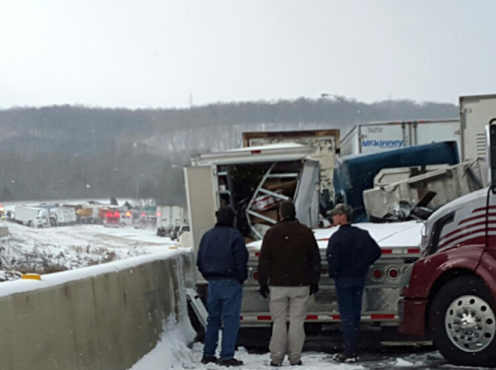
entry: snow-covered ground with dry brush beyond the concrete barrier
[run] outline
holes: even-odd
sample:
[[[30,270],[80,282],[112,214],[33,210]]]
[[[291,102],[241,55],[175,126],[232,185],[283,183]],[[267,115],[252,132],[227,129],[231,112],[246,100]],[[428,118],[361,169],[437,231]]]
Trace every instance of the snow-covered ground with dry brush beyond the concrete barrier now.
[[[0,226],[10,232],[10,236],[0,238],[0,281],[20,278],[19,271],[76,269],[176,245],[170,238],[156,236],[151,228],[74,225],[34,229],[6,221]]]

